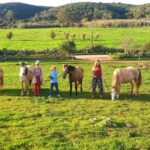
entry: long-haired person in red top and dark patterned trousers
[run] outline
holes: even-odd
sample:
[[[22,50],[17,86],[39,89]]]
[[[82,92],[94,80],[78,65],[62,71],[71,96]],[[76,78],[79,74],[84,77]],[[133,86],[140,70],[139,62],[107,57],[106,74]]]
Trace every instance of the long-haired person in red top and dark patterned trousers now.
[[[96,60],[95,64],[92,68],[92,74],[93,74],[93,79],[92,79],[92,97],[95,96],[96,92],[96,86],[98,84],[99,88],[99,93],[103,93],[103,83],[102,83],[102,68],[100,64],[100,60]]]

